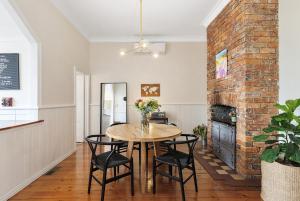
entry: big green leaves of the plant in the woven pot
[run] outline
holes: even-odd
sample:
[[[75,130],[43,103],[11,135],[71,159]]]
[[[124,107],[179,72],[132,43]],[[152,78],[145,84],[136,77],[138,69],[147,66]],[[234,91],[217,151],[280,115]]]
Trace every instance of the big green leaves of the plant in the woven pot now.
[[[300,99],[275,106],[282,113],[272,117],[269,126],[263,129],[264,134],[253,138],[255,142],[266,144],[261,160],[300,166],[300,116],[295,112],[300,106]]]

